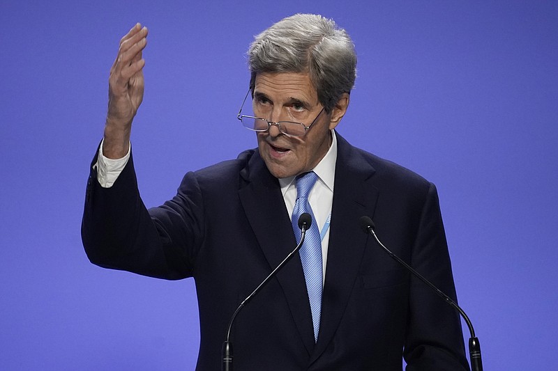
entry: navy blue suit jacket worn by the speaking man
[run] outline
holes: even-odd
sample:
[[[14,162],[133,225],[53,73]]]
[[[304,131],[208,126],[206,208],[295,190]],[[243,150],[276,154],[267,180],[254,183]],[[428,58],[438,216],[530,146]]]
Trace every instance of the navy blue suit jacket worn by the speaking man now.
[[[455,298],[435,186],[337,136],[318,341],[297,255],[237,317],[234,367],[401,370],[403,354],[407,370],[467,370],[458,314],[359,226],[370,216],[386,246]],[[96,265],[195,278],[197,370],[220,370],[232,313],[296,245],[278,180],[257,150],[186,174],[176,196],[149,211],[131,158],[110,189],[91,168],[82,239]]]

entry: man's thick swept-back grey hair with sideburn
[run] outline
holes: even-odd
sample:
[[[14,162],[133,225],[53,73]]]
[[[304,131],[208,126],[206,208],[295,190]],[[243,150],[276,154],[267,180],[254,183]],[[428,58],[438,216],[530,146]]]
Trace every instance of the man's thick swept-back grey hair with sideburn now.
[[[318,100],[330,113],[356,79],[356,52],[344,29],[321,15],[296,14],[259,35],[248,49],[250,88],[258,73],[308,73]]]

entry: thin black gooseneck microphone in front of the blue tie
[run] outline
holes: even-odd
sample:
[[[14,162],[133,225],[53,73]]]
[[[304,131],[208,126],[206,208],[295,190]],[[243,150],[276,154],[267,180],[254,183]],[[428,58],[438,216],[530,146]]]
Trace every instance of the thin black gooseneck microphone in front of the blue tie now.
[[[232,371],[232,341],[230,341],[229,338],[230,338],[230,334],[231,334],[232,324],[234,322],[234,319],[236,318],[236,315],[239,314],[241,309],[244,308],[244,306],[246,306],[248,301],[250,301],[252,299],[252,297],[254,297],[254,295],[257,294],[257,292],[259,292],[259,290],[261,290],[262,287],[264,287],[266,285],[266,283],[269,282],[269,280],[271,280],[271,278],[276,276],[277,272],[282,267],[285,267],[287,262],[289,262],[289,260],[291,260],[291,258],[294,256],[294,254],[296,254],[300,250],[300,248],[301,248],[301,246],[304,242],[304,237],[306,237],[306,231],[308,229],[310,229],[310,226],[312,225],[312,216],[310,216],[310,214],[308,214],[308,212],[305,212],[305,213],[301,214],[301,216],[299,217],[298,225],[299,225],[299,228],[301,230],[301,241],[299,242],[299,244],[297,244],[296,247],[294,248],[294,250],[291,251],[289,253],[289,255],[287,255],[287,257],[285,259],[283,259],[282,262],[279,263],[279,265],[276,267],[276,269],[273,269],[273,271],[271,271],[269,276],[267,276],[264,279],[264,281],[262,281],[262,283],[260,283],[255,288],[254,291],[252,291],[252,294],[248,295],[248,297],[246,297],[246,299],[244,299],[242,301],[242,303],[240,303],[239,307],[236,308],[236,310],[232,314],[231,320],[229,322],[229,327],[227,329],[227,340],[225,340],[225,342],[223,342],[223,347],[221,348],[221,355],[223,356],[223,363],[222,363],[222,366],[221,366],[222,371]]]

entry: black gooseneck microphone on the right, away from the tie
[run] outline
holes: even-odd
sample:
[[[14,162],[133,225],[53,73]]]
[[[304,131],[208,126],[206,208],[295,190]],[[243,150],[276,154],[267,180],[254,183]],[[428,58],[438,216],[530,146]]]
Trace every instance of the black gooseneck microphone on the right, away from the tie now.
[[[451,299],[451,297],[448,297],[448,295],[444,294],[444,292],[439,290],[438,287],[436,287],[434,284],[432,284],[426,278],[421,276],[421,274],[419,274],[417,271],[415,271],[410,265],[408,265],[406,262],[401,260],[397,255],[392,253],[389,250],[389,248],[384,246],[384,244],[382,244],[382,242],[380,242],[380,240],[378,239],[378,237],[376,235],[376,232],[375,232],[374,222],[372,221],[372,219],[370,219],[369,216],[361,216],[360,222],[361,222],[361,227],[363,228],[364,232],[365,233],[370,233],[370,235],[372,235],[374,237],[374,239],[379,244],[379,246],[381,246],[384,249],[384,251],[386,251],[386,253],[388,253],[388,255],[391,256],[391,258],[393,258],[400,265],[405,267],[416,278],[418,278],[419,280],[423,281],[423,283],[428,285],[432,290],[434,290],[438,294],[439,297],[442,297],[442,299],[444,299],[444,301],[446,303],[448,303],[449,306],[451,306],[455,310],[457,310],[459,312],[459,314],[461,315],[461,317],[463,317],[463,319],[465,319],[465,322],[467,322],[467,327],[469,327],[469,333],[471,334],[471,338],[469,338],[469,357],[471,358],[471,370],[472,371],[483,371],[483,361],[481,359],[481,345],[478,343],[478,339],[475,337],[475,331],[473,329],[473,324],[469,320],[469,317],[467,317],[465,312],[461,309],[461,307],[458,306],[458,304],[455,303],[455,301],[453,301]]]

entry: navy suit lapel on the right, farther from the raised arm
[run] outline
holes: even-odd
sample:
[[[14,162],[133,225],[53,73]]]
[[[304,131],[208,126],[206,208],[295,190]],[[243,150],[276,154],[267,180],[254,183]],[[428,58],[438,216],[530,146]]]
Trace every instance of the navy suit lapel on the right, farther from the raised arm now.
[[[322,319],[311,362],[324,352],[333,338],[352,294],[368,237],[361,230],[359,219],[363,215],[373,217],[378,196],[370,180],[375,169],[339,134],[337,140]]]

